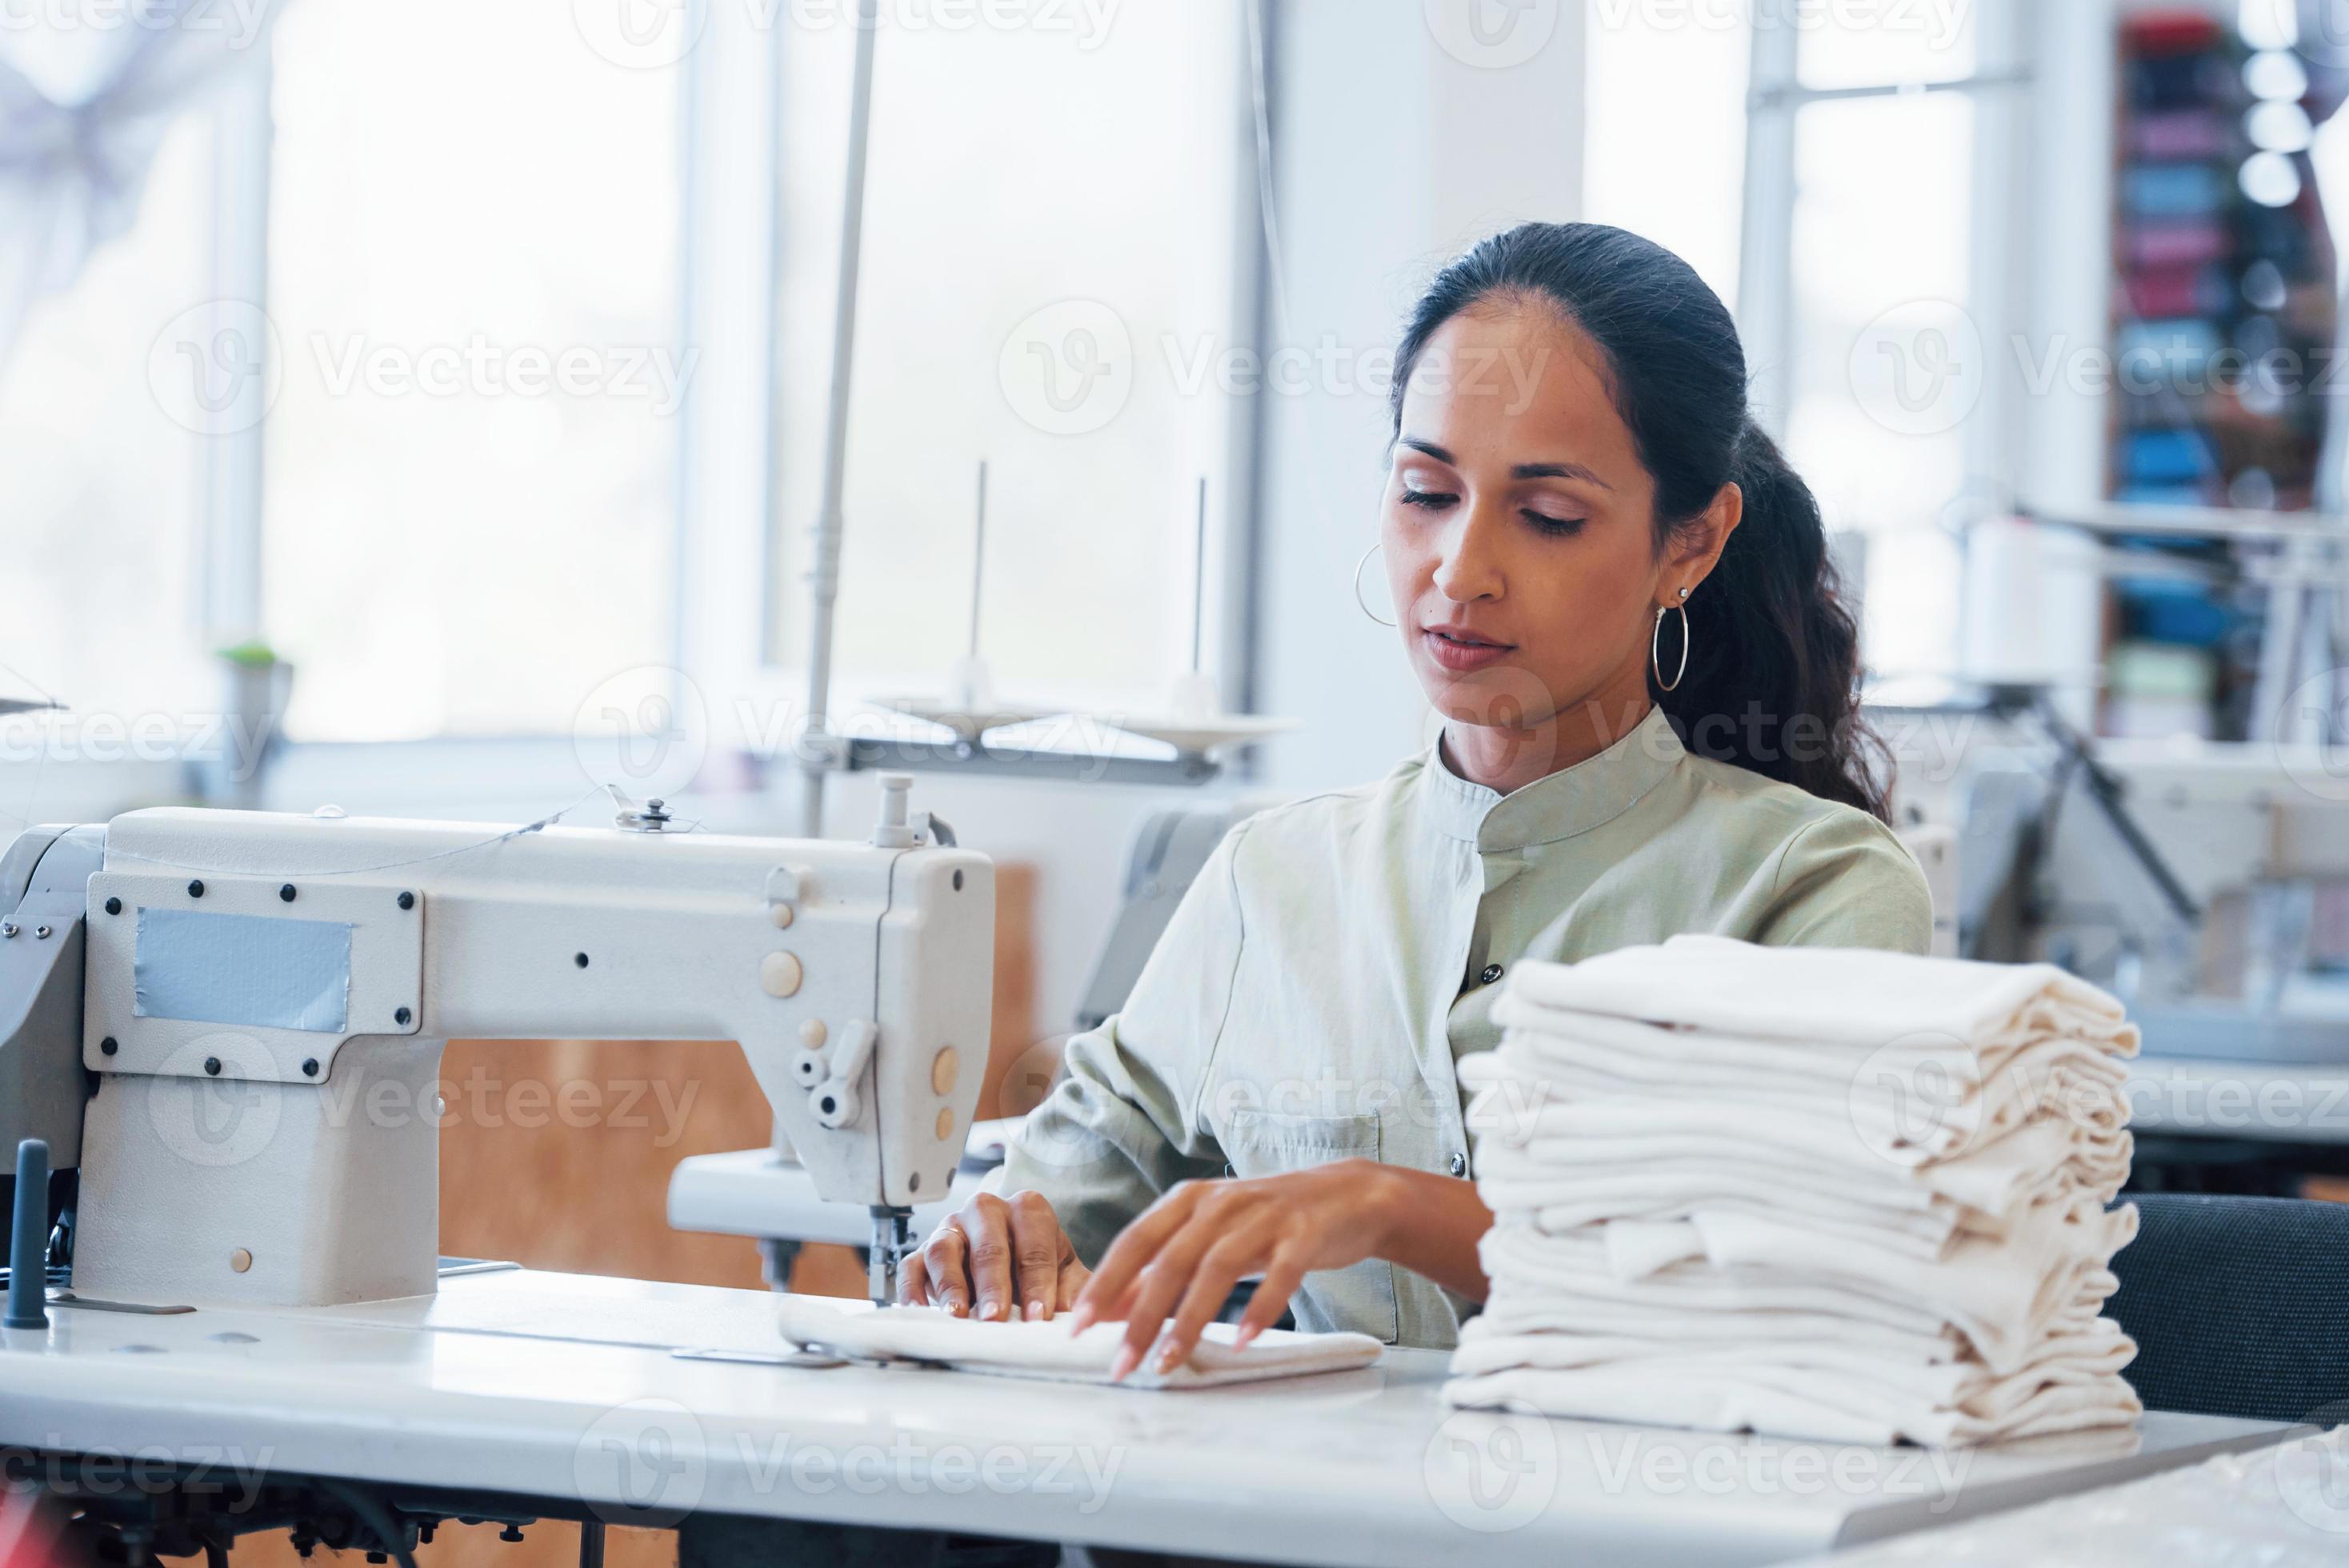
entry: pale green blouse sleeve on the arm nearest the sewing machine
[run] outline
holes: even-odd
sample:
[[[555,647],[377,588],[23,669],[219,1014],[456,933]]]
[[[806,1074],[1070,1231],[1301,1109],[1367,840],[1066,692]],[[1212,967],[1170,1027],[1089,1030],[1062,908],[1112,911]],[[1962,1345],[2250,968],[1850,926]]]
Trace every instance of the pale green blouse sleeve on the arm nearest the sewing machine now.
[[[1059,1082],[987,1178],[994,1192],[1043,1192],[1085,1263],[1177,1181],[1224,1174],[1198,1106],[1240,967],[1245,833],[1243,822],[1200,866],[1125,1007],[1069,1040]]]

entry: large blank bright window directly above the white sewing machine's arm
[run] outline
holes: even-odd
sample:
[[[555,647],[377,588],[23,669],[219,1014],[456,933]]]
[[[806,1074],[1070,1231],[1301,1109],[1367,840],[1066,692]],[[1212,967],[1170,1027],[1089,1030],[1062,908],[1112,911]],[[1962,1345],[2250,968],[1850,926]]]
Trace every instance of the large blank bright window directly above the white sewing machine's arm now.
[[[277,31],[263,606],[301,739],[566,732],[669,655],[681,73],[571,9]]]

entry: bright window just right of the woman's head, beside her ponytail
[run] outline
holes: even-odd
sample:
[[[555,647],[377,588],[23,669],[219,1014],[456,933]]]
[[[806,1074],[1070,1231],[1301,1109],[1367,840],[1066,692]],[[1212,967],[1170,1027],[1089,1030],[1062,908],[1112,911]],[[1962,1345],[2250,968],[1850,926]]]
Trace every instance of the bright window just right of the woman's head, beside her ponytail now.
[[[1755,28],[1743,307],[1755,401],[1856,542],[1863,657],[1945,671],[1954,502],[1999,462],[1983,408],[1997,307],[1980,296],[1978,157],[2013,80],[1983,68],[1999,7],[1773,7]],[[1792,21],[1790,21],[1792,19]],[[1748,279],[1748,282],[1757,282]]]

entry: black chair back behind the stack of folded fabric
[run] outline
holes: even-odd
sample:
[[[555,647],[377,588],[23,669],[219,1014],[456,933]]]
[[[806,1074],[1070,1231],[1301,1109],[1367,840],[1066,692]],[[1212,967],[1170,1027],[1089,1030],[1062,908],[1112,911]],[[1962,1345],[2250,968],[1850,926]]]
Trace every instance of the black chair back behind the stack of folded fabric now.
[[[2349,1420],[2349,1204],[2123,1192],[2138,1239],[2105,1305],[2149,1411]]]

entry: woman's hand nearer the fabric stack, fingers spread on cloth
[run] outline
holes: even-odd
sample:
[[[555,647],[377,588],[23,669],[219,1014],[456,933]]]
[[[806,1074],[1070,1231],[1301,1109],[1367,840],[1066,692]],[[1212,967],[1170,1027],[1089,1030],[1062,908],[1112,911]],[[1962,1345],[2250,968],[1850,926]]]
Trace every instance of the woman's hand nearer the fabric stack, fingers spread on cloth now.
[[[1071,1329],[1125,1319],[1116,1383],[1142,1364],[1172,1314],[1158,1371],[1182,1366],[1243,1275],[1264,1275],[1238,1343],[1271,1329],[1304,1277],[1379,1256],[1395,1211],[1395,1169],[1337,1160],[1247,1181],[1184,1181],[1130,1223],[1073,1303]]]

